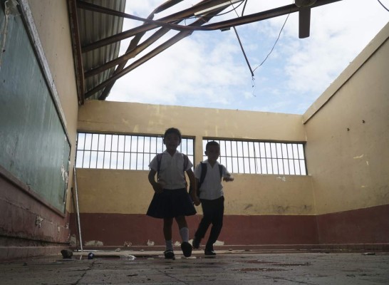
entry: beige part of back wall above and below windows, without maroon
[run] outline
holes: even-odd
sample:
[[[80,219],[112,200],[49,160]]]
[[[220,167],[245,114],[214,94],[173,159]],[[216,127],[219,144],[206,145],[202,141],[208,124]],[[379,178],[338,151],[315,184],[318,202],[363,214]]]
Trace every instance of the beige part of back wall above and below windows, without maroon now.
[[[203,137],[305,141],[301,115],[98,100],[87,101],[78,115],[81,131],[162,135],[169,127],[195,138],[196,162],[202,160]],[[147,173],[79,169],[80,211],[144,214],[152,197]],[[226,214],[315,214],[309,176],[235,177],[224,184]]]

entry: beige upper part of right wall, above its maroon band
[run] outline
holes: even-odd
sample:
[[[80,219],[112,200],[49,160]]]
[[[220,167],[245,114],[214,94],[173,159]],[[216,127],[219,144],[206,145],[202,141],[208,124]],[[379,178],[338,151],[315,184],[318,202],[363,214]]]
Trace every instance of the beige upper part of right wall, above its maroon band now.
[[[389,204],[388,36],[389,24],[304,114],[318,214]]]

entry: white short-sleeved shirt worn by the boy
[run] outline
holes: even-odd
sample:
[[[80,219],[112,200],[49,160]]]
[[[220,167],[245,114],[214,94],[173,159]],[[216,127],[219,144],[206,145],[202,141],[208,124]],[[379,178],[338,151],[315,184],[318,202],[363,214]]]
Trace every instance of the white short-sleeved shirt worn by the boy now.
[[[194,177],[198,180],[200,180],[203,165],[207,167],[207,172],[199,188],[199,199],[214,200],[224,196],[222,177],[229,174],[227,168],[219,164],[219,162],[215,162],[212,167],[208,160],[204,160],[203,163],[199,163],[194,169]],[[220,176],[219,165],[222,167],[222,176]]]

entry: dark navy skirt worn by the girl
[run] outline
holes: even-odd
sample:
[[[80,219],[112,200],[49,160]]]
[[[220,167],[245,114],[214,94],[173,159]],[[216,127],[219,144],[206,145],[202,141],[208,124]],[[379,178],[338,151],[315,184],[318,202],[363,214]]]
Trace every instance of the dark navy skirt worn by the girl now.
[[[164,189],[162,193],[154,193],[149,209],[147,209],[147,216],[158,219],[194,214],[196,214],[196,209],[194,209],[192,199],[185,188]]]

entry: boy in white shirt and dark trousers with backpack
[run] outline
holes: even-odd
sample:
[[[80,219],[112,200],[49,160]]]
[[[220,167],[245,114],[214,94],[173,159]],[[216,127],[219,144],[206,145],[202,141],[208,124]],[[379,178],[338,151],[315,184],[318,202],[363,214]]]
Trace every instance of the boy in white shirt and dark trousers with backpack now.
[[[234,177],[232,177],[224,165],[220,165],[219,162],[217,162],[220,155],[219,143],[215,141],[207,142],[205,155],[207,155],[208,159],[197,165],[194,169],[194,177],[196,177],[200,191],[199,198],[202,205],[203,217],[194,234],[192,246],[194,249],[199,248],[201,239],[204,238],[209,225],[212,224],[212,229],[209,233],[207,244],[205,245],[204,254],[214,256],[216,253],[214,252],[213,244],[217,241],[223,227],[224,196],[222,177],[226,182],[234,181]],[[202,172],[204,171],[202,170],[202,167],[207,167],[207,169],[204,181],[199,185]]]

